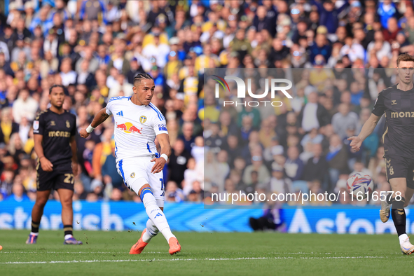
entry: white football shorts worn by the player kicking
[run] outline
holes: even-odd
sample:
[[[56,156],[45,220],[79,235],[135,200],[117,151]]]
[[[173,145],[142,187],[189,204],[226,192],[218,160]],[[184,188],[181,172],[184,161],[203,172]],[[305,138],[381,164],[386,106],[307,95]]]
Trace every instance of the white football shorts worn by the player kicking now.
[[[153,159],[152,156],[125,158],[116,163],[116,169],[118,174],[123,177],[126,186],[137,195],[142,186],[149,184],[157,200],[158,207],[164,207],[165,184],[163,171],[155,174],[151,173],[151,169],[155,164],[155,162],[151,162],[151,159]]]

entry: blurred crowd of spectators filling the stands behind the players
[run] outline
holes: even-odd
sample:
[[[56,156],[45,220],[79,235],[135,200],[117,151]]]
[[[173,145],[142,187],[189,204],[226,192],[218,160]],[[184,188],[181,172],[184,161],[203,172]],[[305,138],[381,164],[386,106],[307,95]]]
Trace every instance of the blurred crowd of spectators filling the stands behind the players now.
[[[387,68],[400,53],[414,55],[413,43],[408,0],[6,1],[0,200],[36,197],[32,122],[48,108],[51,85],[67,88],[64,109],[80,130],[110,97],[132,95],[139,72],[154,78],[152,102],[167,119],[168,202],[211,202],[212,193],[239,191],[345,191],[354,171],[370,174],[375,191],[389,191],[384,118],[361,151],[350,151],[346,138],[359,133],[378,92],[395,83]],[[205,68],[251,78],[258,93],[259,79],[289,78],[293,99],[269,93],[282,106],[243,106],[234,81],[216,99]],[[223,107],[223,99],[240,104]],[[139,202],[116,172],[113,120],[77,142],[75,200]]]

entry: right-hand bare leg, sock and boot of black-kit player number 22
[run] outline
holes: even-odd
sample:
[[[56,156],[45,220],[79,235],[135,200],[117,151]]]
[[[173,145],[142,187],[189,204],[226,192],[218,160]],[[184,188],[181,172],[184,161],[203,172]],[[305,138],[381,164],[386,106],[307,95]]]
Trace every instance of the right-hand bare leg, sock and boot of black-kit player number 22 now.
[[[74,191],[67,188],[59,188],[57,193],[59,193],[60,203],[62,203],[63,244],[82,244],[81,241],[76,240],[73,236],[74,210],[72,209],[72,198]]]

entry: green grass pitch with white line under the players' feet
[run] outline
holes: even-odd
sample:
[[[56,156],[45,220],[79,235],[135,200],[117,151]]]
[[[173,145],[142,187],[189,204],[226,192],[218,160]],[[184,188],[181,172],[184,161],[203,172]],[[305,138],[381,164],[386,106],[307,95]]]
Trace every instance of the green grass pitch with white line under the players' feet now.
[[[404,275],[413,256],[396,235],[175,233],[181,253],[170,256],[162,235],[140,255],[140,232],[77,231],[83,245],[63,245],[62,231],[0,230],[0,275]]]

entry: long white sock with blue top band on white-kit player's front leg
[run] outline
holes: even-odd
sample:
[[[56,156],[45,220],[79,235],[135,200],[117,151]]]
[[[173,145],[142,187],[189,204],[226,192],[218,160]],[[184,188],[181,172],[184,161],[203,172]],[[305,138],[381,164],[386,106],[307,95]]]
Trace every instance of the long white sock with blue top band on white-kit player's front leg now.
[[[142,193],[142,202],[144,203],[146,214],[148,214],[149,219],[153,221],[153,224],[160,230],[160,232],[165,237],[167,242],[170,240],[171,237],[175,237],[172,235],[170,226],[168,225],[167,219],[165,218],[165,214],[161,211],[160,207],[157,205],[156,198],[151,191],[151,189],[147,188],[148,190],[144,189]],[[146,229],[148,231],[148,228]]]

